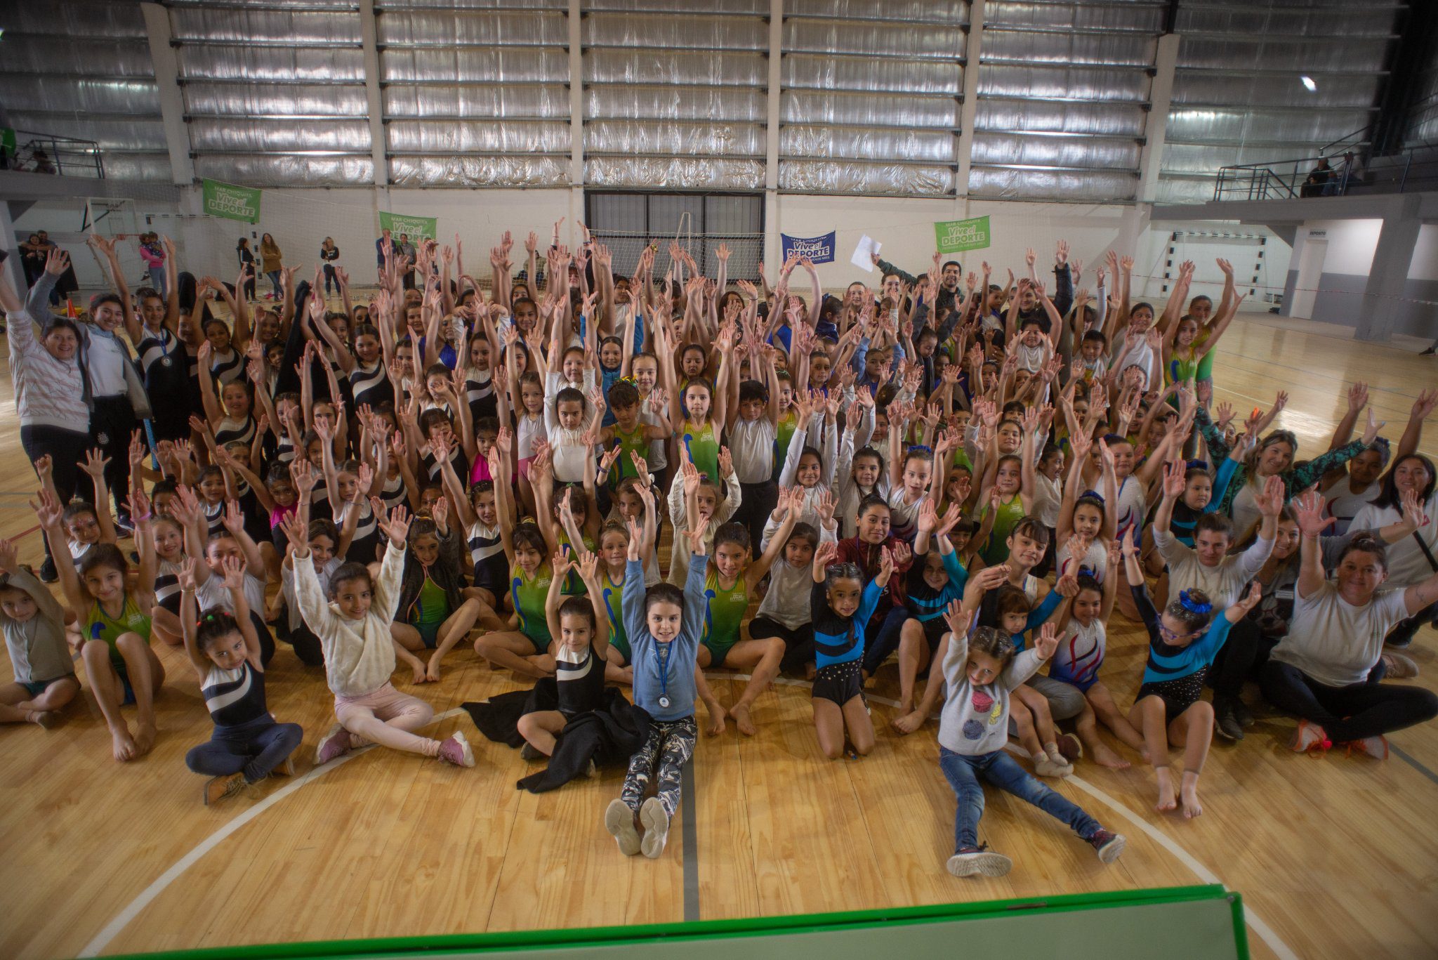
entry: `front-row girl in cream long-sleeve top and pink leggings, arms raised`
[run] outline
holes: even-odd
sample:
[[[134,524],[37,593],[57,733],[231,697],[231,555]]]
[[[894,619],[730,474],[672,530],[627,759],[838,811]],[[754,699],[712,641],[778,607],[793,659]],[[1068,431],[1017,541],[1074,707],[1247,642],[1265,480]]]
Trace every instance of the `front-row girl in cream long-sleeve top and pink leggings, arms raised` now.
[[[285,521],[285,534],[298,548],[290,554],[295,564],[295,589],[299,612],[305,623],[319,638],[325,651],[325,679],[335,692],[335,717],[339,720],[315,751],[315,763],[329,763],[367,743],[378,743],[394,750],[437,757],[454,766],[473,767],[475,754],[463,733],[447,740],[418,737],[416,730],[434,717],[434,708],[417,697],[394,689],[395,652],[401,648],[390,635],[394,606],[404,573],[404,544],[410,533],[408,511],[395,507],[388,522],[384,504],[371,499],[380,530],[390,538],[390,547],[380,564],[375,583],[364,564],[347,563],[329,579],[329,600],[319,592],[315,560],[305,535],[309,527],[309,488],[299,484],[299,507]],[[404,651],[407,659],[414,659]],[[423,674],[416,674],[416,682]]]

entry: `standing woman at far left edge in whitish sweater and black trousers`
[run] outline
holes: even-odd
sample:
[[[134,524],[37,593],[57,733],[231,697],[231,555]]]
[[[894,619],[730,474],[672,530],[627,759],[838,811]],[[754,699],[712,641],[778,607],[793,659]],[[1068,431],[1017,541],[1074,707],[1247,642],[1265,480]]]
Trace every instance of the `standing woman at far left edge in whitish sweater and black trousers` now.
[[[69,266],[69,253],[53,248],[46,271],[58,276]],[[91,446],[79,330],[75,321],[58,318],[43,338],[37,337],[35,317],[3,272],[0,307],[10,320],[10,380],[20,416],[20,446],[32,463],[42,456],[50,458],[55,492],[62,504],[68,504],[75,495],[79,463]],[[40,567],[40,579],[55,581],[55,564],[49,554]]]

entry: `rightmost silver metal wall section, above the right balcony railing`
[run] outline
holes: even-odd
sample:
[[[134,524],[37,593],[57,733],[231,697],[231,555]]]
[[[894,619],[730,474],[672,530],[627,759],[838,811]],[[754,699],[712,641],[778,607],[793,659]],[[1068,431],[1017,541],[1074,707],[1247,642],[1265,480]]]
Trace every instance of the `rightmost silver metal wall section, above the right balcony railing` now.
[[[1159,200],[1211,200],[1225,164],[1314,157],[1366,127],[1399,0],[1202,0],[1179,6]],[[1303,85],[1310,78],[1313,91]]]

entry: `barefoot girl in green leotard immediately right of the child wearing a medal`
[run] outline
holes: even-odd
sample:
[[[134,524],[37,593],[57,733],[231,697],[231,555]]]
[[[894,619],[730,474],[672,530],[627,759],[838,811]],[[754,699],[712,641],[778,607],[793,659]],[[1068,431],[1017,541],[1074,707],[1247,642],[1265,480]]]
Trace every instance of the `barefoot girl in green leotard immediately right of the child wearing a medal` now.
[[[771,636],[762,640],[746,640],[741,625],[749,609],[749,596],[769,571],[774,561],[784,553],[789,531],[804,511],[804,488],[794,486],[779,492],[779,504],[771,517],[782,518],[779,528],[769,538],[768,548],[751,561],[749,531],[743,524],[723,524],[715,531],[715,545],[709,551],[709,569],[705,571],[703,630],[699,635],[699,668],[723,666],[751,675],[743,694],[735,702],[731,714],[739,733],[755,733],[749,710],[755,698],[779,674],[784,659],[784,640]],[[828,491],[820,495],[820,518],[828,524],[834,517],[834,495]],[[699,698],[709,708],[709,733],[723,731],[723,707],[710,692],[703,674],[695,675]]]

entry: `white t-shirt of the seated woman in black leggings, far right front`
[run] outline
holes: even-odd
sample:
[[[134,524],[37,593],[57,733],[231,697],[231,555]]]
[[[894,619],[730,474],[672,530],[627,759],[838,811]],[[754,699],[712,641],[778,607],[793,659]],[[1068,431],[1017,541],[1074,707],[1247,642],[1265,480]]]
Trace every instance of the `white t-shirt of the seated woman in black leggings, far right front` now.
[[[1310,596],[1294,600],[1288,633],[1273,648],[1273,659],[1329,687],[1362,684],[1383,653],[1388,630],[1405,616],[1402,589],[1378,590],[1357,607],[1339,596],[1337,584],[1324,580]]]

